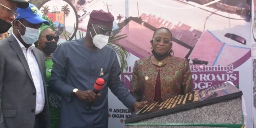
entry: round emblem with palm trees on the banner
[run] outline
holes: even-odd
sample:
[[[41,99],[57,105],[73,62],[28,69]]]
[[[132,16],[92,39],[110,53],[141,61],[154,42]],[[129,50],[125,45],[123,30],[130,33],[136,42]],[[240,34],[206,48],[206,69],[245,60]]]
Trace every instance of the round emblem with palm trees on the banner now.
[[[37,0],[36,5],[42,16],[48,17],[54,24],[55,34],[60,36],[58,43],[75,37],[78,17],[75,6],[68,0]]]

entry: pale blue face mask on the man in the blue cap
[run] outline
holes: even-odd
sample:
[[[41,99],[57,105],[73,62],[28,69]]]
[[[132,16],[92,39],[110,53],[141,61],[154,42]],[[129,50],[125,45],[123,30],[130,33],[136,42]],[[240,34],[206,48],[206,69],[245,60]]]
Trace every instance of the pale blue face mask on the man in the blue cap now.
[[[20,23],[20,21],[18,20],[18,22]],[[22,23],[20,23],[23,27],[25,27]],[[25,34],[22,35],[19,32],[19,34],[21,35],[20,37],[22,38],[22,40],[26,43],[26,44],[33,44],[35,43],[38,38],[39,38],[39,33],[40,33],[40,29],[34,29],[34,28],[30,28],[30,27],[25,27],[26,31]]]

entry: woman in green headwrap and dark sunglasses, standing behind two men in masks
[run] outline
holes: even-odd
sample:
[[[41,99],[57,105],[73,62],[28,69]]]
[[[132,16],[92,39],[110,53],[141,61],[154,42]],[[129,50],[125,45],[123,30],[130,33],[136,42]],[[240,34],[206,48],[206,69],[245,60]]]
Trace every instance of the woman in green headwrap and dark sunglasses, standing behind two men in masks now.
[[[48,20],[48,18],[43,17]],[[48,20],[50,25],[43,24],[41,26],[40,35],[35,46],[44,53],[45,56],[45,66],[46,66],[46,84],[47,84],[47,94],[49,100],[49,111],[50,111],[50,127],[58,128],[60,122],[60,106],[62,97],[53,93],[48,86],[48,81],[51,76],[51,71],[53,67],[53,61],[51,54],[57,47],[57,41],[59,37],[54,33],[54,26],[51,20]]]

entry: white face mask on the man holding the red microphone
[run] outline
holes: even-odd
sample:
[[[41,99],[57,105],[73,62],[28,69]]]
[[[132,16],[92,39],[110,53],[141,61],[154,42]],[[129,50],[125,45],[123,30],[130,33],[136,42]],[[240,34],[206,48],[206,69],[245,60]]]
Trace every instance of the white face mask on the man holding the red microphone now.
[[[93,25],[93,24],[91,24],[91,25]],[[94,29],[94,26],[93,26],[93,29]],[[94,32],[96,33],[95,29],[94,29]],[[90,32],[90,34],[91,34],[91,32]],[[108,35],[96,33],[96,35],[94,37],[91,35],[91,38],[93,38],[93,44],[100,49],[103,48],[109,42]]]

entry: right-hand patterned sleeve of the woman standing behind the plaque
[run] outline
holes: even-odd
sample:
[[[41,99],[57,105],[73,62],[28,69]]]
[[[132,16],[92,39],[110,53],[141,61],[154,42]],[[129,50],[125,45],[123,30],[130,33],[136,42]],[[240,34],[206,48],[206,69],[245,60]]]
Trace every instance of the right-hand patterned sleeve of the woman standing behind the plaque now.
[[[182,80],[182,93],[186,94],[193,91],[193,82],[191,78],[191,71],[188,64],[188,61],[184,61],[184,71],[183,71],[183,80]]]

